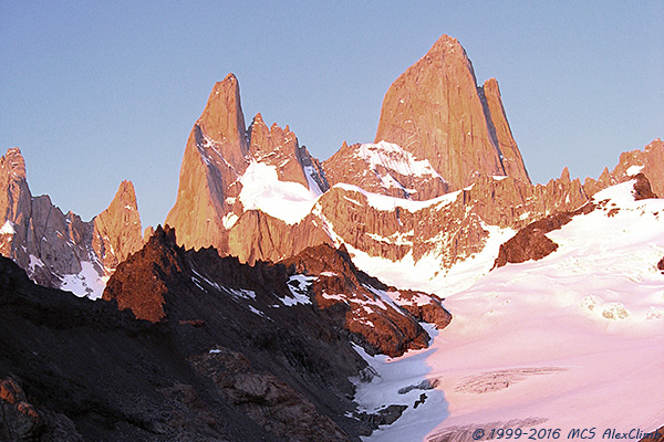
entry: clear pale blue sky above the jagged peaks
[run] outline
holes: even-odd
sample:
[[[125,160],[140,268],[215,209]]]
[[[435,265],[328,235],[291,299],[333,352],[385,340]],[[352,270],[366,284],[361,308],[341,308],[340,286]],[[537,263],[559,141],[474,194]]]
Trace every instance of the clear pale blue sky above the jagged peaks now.
[[[373,141],[390,84],[446,33],[498,78],[535,181],[596,177],[664,137],[663,23],[662,1],[0,1],[0,149],[85,220],[131,179],[154,225],[229,72],[247,124],[325,159]]]

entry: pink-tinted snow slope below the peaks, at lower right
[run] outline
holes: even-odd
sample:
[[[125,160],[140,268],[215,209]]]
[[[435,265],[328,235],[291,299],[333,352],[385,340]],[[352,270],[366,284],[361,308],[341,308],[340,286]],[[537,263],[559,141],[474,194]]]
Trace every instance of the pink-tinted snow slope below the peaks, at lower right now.
[[[360,383],[359,402],[409,408],[365,440],[471,440],[479,429],[486,440],[498,428],[511,439],[517,429],[522,439],[550,430],[543,439],[568,440],[574,429],[636,439],[661,427],[664,200],[634,201],[633,183],[595,194],[594,211],[549,233],[560,245],[549,256],[448,295],[454,319],[430,348],[372,358],[381,376]]]

